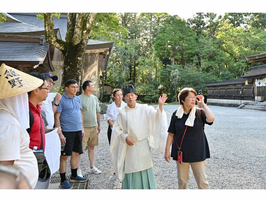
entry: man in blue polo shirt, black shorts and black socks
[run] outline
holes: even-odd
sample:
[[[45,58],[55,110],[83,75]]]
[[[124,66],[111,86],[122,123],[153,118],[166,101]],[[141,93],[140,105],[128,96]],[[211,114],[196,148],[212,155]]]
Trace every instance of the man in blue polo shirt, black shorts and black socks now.
[[[62,95],[55,113],[55,127],[61,126],[66,139],[64,150],[61,151],[59,173],[61,182],[59,188],[72,189],[66,180],[66,160],[70,158],[71,176],[70,182],[85,182],[87,178],[77,175],[77,162],[82,152],[82,138],[84,136],[83,117],[81,113],[81,101],[77,94],[78,83],[74,79],[65,83],[66,93]]]

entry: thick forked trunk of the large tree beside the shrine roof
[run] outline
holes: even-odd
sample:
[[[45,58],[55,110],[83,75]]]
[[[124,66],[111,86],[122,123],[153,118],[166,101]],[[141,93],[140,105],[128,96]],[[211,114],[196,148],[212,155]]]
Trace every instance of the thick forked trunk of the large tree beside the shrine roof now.
[[[75,79],[78,83],[83,69],[83,58],[90,31],[97,13],[68,13],[66,41],[57,39],[53,31],[53,13],[44,13],[45,38],[48,43],[62,51],[64,69],[62,82]]]

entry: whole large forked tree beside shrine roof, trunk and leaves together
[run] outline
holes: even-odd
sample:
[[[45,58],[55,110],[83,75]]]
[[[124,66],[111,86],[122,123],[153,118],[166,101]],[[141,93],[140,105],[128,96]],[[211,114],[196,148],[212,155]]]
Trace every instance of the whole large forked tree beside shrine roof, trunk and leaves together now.
[[[85,48],[90,36],[95,38],[101,35],[109,40],[118,38],[114,41],[122,45],[119,38],[127,35],[127,30],[120,25],[119,18],[114,13],[68,13],[66,41],[62,41],[53,32],[53,18],[59,16],[59,13],[41,13],[38,18],[44,19],[46,41],[63,54],[62,83],[68,79],[80,80]]]

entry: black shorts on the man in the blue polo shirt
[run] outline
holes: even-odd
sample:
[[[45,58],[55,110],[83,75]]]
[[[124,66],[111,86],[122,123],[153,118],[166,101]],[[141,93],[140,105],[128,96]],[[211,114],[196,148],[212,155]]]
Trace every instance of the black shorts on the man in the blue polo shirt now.
[[[82,151],[82,130],[74,132],[64,132],[63,135],[66,138],[66,144],[63,151],[61,151],[62,156],[71,156],[72,151],[79,154],[83,154]]]

